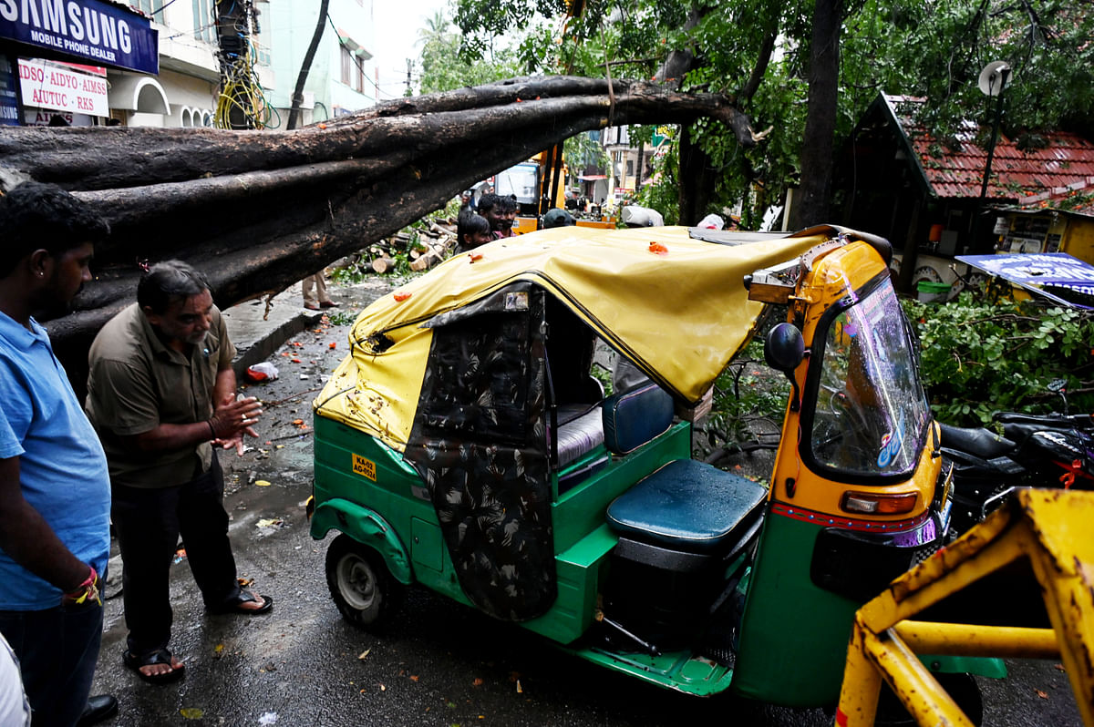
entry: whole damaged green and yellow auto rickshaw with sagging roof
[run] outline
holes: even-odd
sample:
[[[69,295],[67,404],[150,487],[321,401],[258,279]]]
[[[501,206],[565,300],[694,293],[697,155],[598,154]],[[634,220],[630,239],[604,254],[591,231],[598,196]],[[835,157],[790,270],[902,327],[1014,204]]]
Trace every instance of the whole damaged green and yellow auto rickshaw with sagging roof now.
[[[342,615],[377,626],[417,584],[662,687],[835,704],[856,609],[948,529],[888,255],[829,226],[562,227],[376,301],[314,402]],[[793,392],[765,486],[693,459],[689,420],[769,303]],[[645,379],[605,397],[597,339]]]

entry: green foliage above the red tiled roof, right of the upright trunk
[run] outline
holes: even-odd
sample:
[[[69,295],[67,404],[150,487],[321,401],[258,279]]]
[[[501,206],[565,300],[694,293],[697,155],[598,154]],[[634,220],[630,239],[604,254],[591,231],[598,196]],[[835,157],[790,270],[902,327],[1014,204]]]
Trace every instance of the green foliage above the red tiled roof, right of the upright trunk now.
[[[920,120],[953,136],[968,119],[988,126],[994,114],[977,87],[991,61],[1012,69],[1003,129],[1036,145],[1039,132],[1094,131],[1094,8],[1083,0],[886,0],[862,13],[878,59],[860,57],[889,93],[931,99]],[[875,33],[887,33],[884,44]],[[878,61],[884,63],[878,67]]]

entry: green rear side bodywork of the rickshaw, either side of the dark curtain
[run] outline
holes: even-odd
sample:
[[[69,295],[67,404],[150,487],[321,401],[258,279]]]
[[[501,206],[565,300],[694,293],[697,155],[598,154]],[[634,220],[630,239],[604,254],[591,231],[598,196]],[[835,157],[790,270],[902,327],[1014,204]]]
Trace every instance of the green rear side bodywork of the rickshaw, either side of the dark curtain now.
[[[613,457],[602,470],[556,497],[558,598],[550,610],[522,625],[560,644],[575,641],[592,625],[604,565],[618,541],[604,524],[608,504],[645,473],[688,457],[690,442],[690,424],[674,424],[636,452]],[[602,446],[587,458],[604,454]],[[376,550],[400,583],[417,582],[469,605],[456,582],[426,484],[399,453],[345,424],[316,418],[315,458],[319,504],[312,518],[313,538],[331,529],[346,532]],[[554,489],[557,492],[557,476]]]

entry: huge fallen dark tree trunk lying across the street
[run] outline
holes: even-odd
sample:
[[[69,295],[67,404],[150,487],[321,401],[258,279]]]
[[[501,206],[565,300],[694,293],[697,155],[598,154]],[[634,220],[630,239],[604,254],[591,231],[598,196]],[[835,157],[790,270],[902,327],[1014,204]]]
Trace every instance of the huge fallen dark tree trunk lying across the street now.
[[[226,307],[283,290],[574,133],[699,116],[754,143],[725,96],[547,77],[387,102],[294,131],[3,127],[0,186],[53,181],[110,222],[95,280],[48,324],[71,360],[133,300],[144,261],[202,269]]]

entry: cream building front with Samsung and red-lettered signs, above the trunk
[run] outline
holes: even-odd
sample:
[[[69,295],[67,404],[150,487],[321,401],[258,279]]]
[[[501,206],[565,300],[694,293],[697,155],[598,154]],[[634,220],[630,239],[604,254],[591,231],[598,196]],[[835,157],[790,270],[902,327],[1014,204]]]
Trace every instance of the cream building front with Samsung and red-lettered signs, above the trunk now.
[[[218,17],[216,0],[22,3],[25,12],[2,28],[0,71],[18,79],[23,125],[213,126],[223,107],[222,59],[245,60],[259,106],[272,82],[259,23],[268,5],[238,0],[232,16]],[[39,47],[16,37],[21,30]],[[235,52],[224,51],[225,37]],[[127,47],[133,44],[141,48]],[[130,50],[138,61],[124,58]]]

